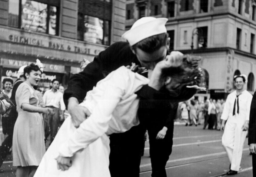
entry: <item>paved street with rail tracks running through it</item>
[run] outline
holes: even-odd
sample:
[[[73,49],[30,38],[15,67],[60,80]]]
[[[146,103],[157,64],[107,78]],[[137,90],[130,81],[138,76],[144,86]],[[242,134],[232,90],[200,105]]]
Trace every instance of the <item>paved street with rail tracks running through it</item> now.
[[[175,125],[174,145],[166,171],[170,177],[215,177],[225,176],[229,168],[228,157],[221,146],[222,131],[203,130],[198,127]],[[0,177],[15,176],[15,168],[12,166],[12,158],[6,160],[2,166],[5,170]],[[151,164],[149,158],[149,144],[146,141],[145,154],[141,160],[140,177],[151,176]],[[252,176],[251,156],[247,145],[244,144],[244,152],[241,162],[241,171],[236,177]]]

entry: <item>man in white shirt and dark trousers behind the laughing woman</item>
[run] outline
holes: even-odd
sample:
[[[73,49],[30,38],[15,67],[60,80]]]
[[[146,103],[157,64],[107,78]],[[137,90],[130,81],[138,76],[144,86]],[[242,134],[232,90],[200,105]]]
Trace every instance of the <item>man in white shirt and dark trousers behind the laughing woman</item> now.
[[[49,136],[50,128],[51,143],[57,134],[59,119],[64,119],[64,111],[66,109],[63,94],[58,90],[58,87],[59,81],[56,79],[52,80],[52,89],[47,90],[43,96],[45,107],[50,107],[55,112],[54,115],[44,115],[45,139]]]

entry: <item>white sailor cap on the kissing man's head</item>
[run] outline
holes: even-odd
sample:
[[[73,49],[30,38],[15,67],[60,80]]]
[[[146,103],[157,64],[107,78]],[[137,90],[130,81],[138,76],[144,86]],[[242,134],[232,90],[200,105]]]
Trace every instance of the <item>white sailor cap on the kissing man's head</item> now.
[[[165,24],[167,21],[167,18],[142,17],[122,35],[122,38],[128,40],[129,44],[133,46],[150,36],[166,33]]]

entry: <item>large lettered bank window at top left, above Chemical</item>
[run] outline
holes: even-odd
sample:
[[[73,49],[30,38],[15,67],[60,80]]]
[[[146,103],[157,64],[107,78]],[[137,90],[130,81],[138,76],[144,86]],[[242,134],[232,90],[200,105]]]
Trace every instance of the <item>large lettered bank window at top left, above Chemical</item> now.
[[[8,26],[58,35],[58,6],[59,1],[45,4],[40,0],[10,0]]]

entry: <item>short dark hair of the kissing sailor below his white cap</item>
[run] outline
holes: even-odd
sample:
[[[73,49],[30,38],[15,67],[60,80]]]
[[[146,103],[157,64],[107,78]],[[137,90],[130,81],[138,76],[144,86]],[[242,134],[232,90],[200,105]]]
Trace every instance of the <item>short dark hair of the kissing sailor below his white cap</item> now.
[[[134,44],[132,49],[135,50],[136,48],[141,49],[144,52],[155,52],[156,50],[160,49],[162,46],[165,46],[168,39],[168,33],[161,33],[154,36],[150,36],[140,42]]]

